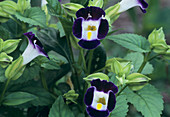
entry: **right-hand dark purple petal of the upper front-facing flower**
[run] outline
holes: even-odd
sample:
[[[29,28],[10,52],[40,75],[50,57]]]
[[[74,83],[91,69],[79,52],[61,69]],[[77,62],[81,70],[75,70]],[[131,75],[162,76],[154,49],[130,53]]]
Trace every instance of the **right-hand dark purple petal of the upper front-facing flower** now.
[[[108,21],[106,19],[101,19],[97,37],[99,39],[105,38],[108,33],[108,30],[109,30]]]

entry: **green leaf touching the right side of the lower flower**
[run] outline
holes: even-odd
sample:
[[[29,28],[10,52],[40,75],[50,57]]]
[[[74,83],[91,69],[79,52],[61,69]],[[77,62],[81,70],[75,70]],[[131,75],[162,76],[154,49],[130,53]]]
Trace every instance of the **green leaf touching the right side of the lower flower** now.
[[[116,107],[110,114],[110,117],[125,117],[128,112],[128,105],[125,95],[116,98]]]

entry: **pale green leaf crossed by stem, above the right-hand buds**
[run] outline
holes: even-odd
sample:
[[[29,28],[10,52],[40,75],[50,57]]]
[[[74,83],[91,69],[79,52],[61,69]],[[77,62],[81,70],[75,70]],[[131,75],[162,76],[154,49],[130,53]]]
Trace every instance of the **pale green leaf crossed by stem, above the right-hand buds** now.
[[[127,54],[125,59],[132,61],[132,64],[134,65],[133,72],[137,72],[140,66],[142,65],[142,62],[144,61],[144,56],[139,52],[132,52]],[[142,74],[151,74],[153,70],[153,66],[148,62],[144,67]]]

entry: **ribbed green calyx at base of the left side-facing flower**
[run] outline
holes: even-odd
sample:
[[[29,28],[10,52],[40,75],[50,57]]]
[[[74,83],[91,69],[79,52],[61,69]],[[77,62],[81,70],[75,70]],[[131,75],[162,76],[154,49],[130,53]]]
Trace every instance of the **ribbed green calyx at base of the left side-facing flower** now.
[[[24,72],[25,65],[23,65],[23,57],[12,62],[5,71],[5,77],[12,80],[17,80]]]

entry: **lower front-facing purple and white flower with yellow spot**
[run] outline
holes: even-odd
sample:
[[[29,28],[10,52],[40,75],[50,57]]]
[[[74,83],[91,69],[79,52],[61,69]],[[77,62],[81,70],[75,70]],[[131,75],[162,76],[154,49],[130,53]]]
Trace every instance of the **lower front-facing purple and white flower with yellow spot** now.
[[[115,108],[118,88],[112,82],[95,79],[87,89],[84,102],[91,117],[107,117]]]

